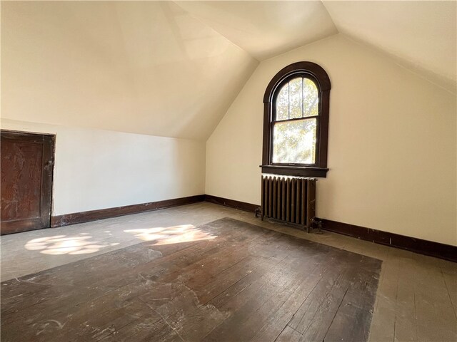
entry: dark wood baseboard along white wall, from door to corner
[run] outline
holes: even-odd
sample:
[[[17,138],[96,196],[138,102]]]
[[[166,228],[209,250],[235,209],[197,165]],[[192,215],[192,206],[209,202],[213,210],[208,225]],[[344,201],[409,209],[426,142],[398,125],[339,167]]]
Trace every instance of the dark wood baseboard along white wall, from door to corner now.
[[[51,217],[51,227],[62,227],[68,226],[69,224],[96,221],[98,219],[108,219],[110,217],[137,214],[139,212],[149,212],[151,210],[176,207],[178,205],[191,204],[196,202],[203,202],[204,200],[205,195],[196,195],[190,197],[166,199],[164,201],[158,202],[126,205],[124,207],[91,210],[89,212],[74,212],[72,214],[64,214]]]

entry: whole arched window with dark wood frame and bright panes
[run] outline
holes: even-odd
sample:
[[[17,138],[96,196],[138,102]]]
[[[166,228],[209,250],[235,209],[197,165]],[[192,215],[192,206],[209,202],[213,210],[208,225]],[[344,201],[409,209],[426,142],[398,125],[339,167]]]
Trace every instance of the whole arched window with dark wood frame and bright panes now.
[[[262,172],[326,177],[330,79],[311,62],[286,66],[263,97]]]

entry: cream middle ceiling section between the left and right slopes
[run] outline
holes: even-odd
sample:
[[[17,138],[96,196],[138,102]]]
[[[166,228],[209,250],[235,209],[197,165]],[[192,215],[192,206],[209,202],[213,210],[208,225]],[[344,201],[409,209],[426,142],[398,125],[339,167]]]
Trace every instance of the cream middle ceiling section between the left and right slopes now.
[[[338,33],[321,1],[176,1],[262,61]]]

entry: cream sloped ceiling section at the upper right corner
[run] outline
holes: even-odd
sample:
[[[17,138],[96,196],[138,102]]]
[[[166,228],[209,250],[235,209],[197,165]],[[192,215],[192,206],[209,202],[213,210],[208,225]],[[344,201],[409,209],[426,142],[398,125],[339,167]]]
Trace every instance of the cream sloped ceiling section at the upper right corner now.
[[[456,93],[457,1],[324,1],[338,31]]]

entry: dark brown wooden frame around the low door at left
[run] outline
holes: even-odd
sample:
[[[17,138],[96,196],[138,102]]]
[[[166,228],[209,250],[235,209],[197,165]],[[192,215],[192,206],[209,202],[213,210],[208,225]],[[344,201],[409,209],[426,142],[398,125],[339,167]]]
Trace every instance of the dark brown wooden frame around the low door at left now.
[[[54,157],[56,135],[49,133],[31,133],[19,130],[0,130],[1,138],[17,140],[20,142],[35,142],[43,145],[41,157],[41,189],[40,189],[40,217],[31,219],[28,227],[21,225],[20,220],[1,222],[6,224],[8,232],[1,234],[11,234],[16,232],[26,232],[28,230],[43,229],[51,227],[52,201],[53,201],[53,182],[54,182]],[[39,224],[40,227],[37,225]],[[3,230],[3,229],[1,229]]]

